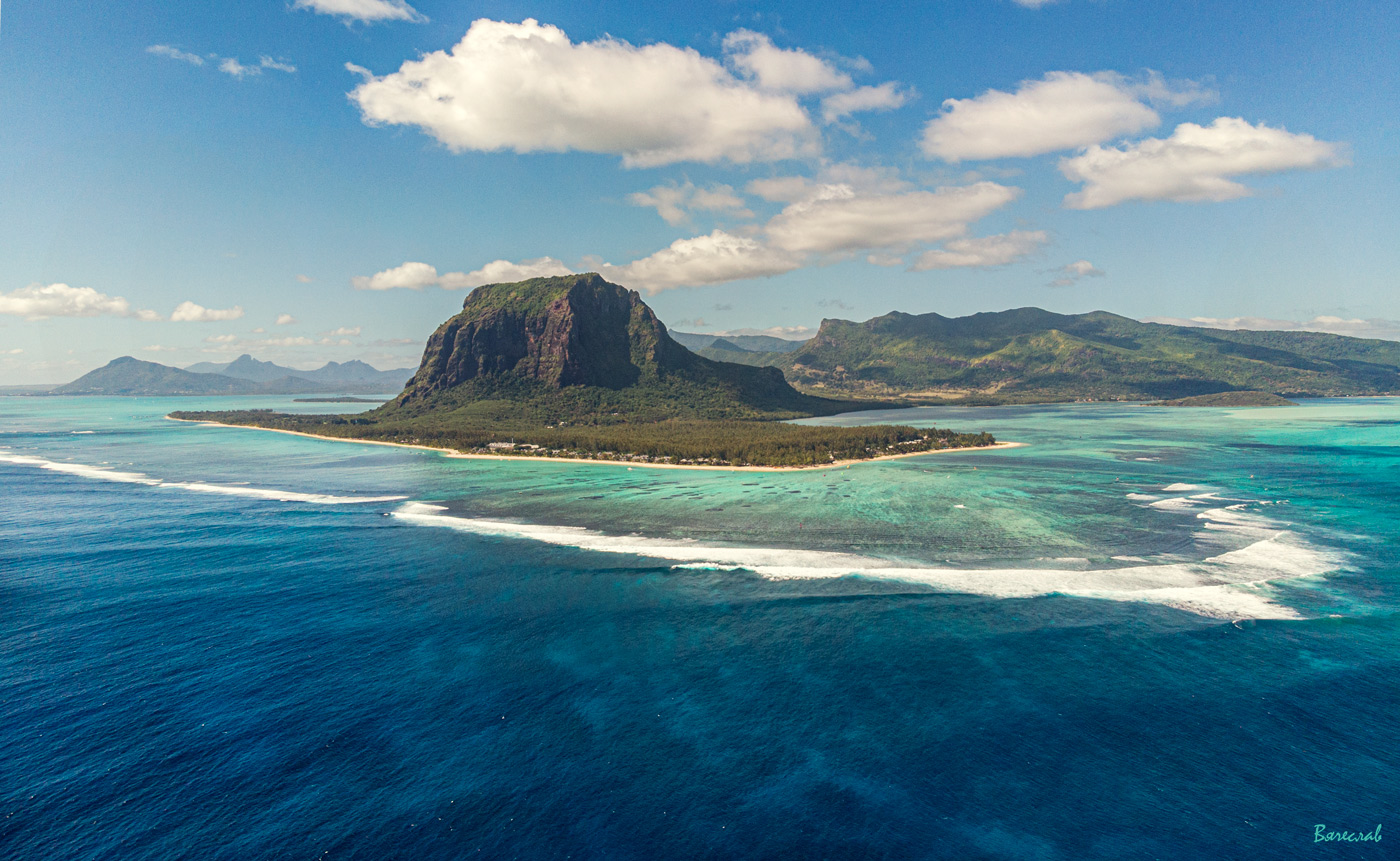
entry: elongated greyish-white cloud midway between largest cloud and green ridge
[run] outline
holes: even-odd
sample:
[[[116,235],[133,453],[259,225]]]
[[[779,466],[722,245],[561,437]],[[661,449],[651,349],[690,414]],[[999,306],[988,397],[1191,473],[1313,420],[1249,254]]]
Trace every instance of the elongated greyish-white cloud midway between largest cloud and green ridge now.
[[[822,186],[816,196],[788,204],[766,231],[773,246],[790,252],[906,249],[960,237],[967,224],[1019,193],[995,182],[869,195],[847,185]]]

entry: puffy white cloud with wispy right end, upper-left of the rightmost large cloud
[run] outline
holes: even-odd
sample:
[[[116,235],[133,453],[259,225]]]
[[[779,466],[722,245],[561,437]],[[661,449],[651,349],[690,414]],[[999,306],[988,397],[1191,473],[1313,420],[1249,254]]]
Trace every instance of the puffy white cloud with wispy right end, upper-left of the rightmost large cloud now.
[[[921,146],[951,162],[1074,150],[1155,129],[1162,119],[1148,101],[1176,106],[1212,95],[1152,73],[1134,80],[1114,71],[1050,71],[1022,81],[1015,92],[988,90],[945,101],[944,112],[924,126]]]

